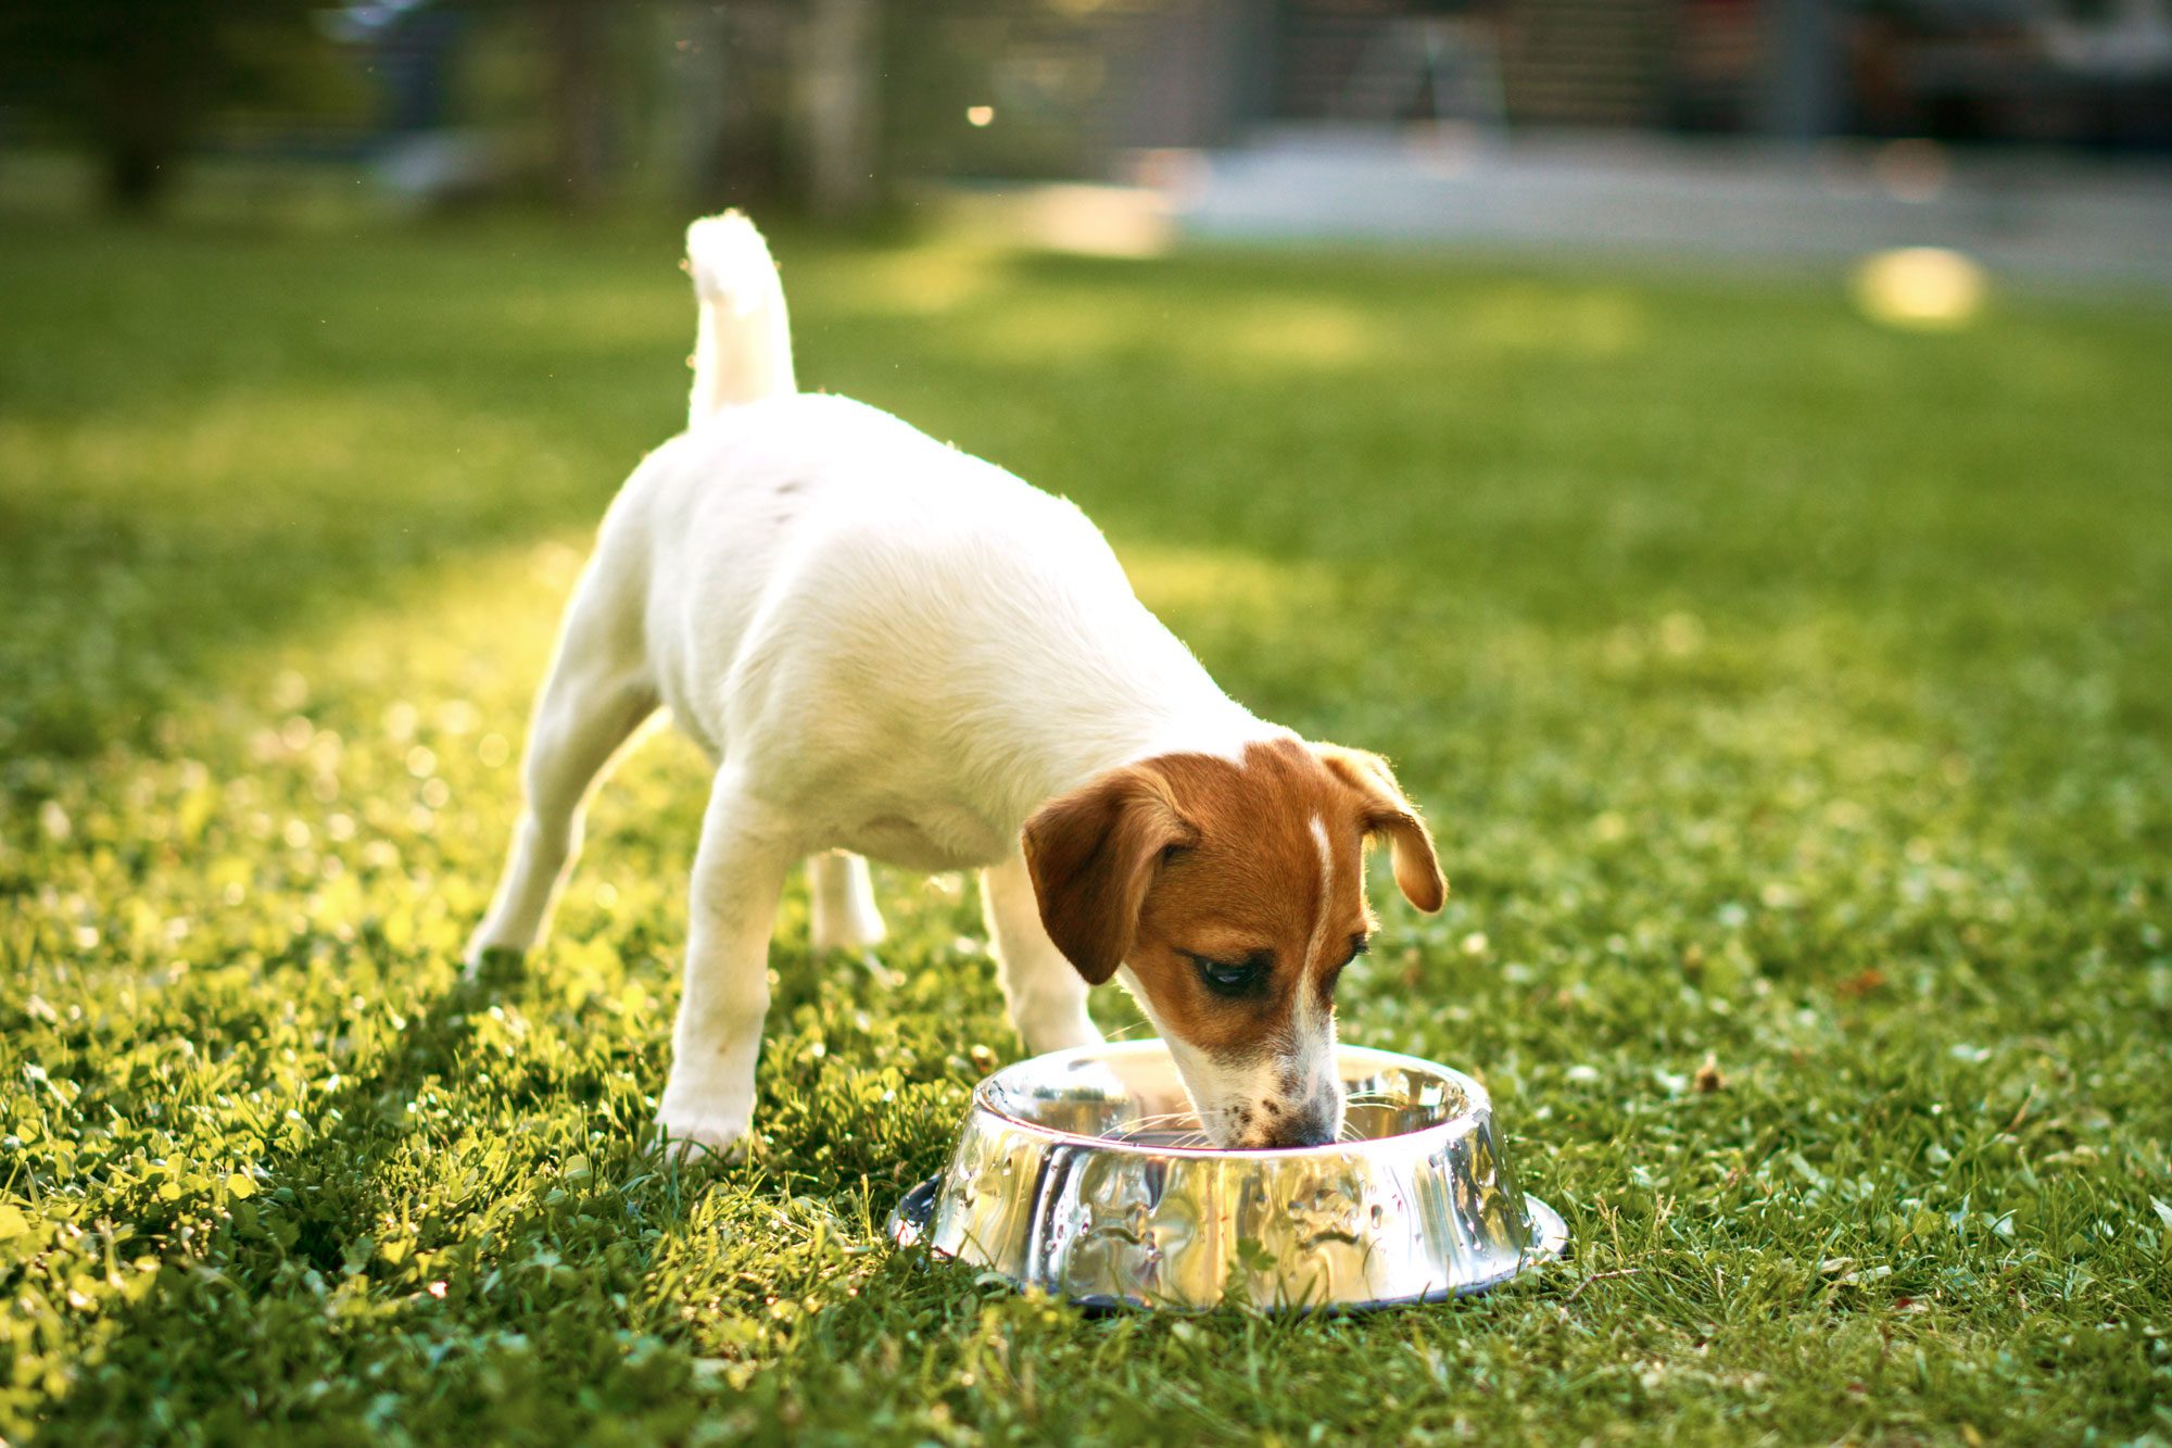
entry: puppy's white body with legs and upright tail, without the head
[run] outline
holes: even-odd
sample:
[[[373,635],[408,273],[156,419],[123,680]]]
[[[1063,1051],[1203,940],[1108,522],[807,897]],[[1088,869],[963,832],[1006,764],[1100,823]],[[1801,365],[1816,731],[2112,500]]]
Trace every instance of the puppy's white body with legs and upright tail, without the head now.
[[[980,867],[1032,1050],[1101,1039],[1047,937],[1019,833],[1138,759],[1286,735],[1232,702],[1132,594],[1073,504],[882,411],[793,389],[784,294],[743,217],[689,233],[691,424],[606,515],[523,765],[528,807],[469,957],[526,950],[580,848],[593,781],[658,707],[717,765],[658,1120],[747,1131],[786,872],[810,857],[815,944],[882,937],[864,857]],[[1329,1022],[1331,1044],[1331,1022]],[[1197,1054],[1197,1052],[1192,1052]],[[1195,1096],[1218,1068],[1186,1061]]]

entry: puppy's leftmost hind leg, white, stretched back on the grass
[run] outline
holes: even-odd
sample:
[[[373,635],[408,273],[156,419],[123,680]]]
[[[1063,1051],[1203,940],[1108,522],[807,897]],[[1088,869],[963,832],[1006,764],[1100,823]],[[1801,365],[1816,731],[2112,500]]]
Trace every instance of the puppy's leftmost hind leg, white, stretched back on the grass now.
[[[623,570],[604,563],[599,550],[573,591],[558,657],[536,698],[521,763],[528,800],[497,896],[467,946],[469,970],[487,950],[528,950],[541,939],[580,854],[589,789],[619,746],[656,713],[639,607],[628,598]]]

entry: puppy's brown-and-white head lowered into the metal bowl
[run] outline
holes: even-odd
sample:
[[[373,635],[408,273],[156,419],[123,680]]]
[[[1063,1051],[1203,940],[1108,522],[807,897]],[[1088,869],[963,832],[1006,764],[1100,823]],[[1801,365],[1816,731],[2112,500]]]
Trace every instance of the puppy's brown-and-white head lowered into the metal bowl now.
[[[1284,737],[1112,770],[1025,822],[1025,863],[1077,972],[1129,972],[1216,1146],[1318,1146],[1342,1131],[1334,991],[1373,933],[1373,837],[1438,911],[1434,839],[1386,761]]]

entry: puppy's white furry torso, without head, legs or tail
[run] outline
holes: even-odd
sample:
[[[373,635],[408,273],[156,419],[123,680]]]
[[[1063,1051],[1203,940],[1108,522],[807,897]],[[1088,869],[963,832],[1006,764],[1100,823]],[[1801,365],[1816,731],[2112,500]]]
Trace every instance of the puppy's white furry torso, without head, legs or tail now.
[[[860,402],[728,409],[604,522],[673,717],[806,850],[993,865],[1049,796],[1266,726],[1069,502]]]

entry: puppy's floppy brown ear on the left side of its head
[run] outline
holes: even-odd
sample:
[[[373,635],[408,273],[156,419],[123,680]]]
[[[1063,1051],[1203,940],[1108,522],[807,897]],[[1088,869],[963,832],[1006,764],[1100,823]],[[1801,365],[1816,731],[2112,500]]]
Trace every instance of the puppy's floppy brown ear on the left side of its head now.
[[[1040,924],[1088,983],[1123,965],[1164,852],[1192,839],[1151,763],[1110,770],[1025,822]]]

